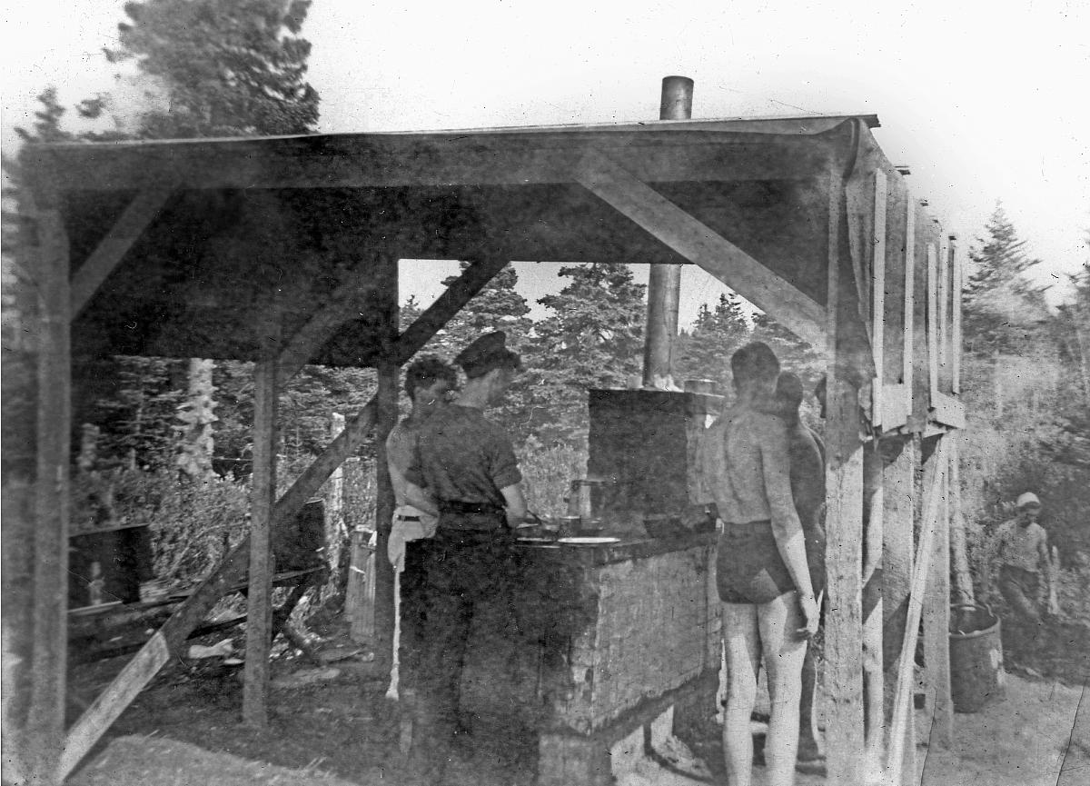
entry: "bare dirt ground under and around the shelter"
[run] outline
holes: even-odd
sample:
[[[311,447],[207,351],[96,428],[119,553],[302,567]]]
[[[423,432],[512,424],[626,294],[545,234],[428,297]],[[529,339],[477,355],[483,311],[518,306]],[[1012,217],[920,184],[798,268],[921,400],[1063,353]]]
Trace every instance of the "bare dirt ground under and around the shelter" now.
[[[336,620],[318,630],[323,649],[339,649],[346,654],[359,650],[350,646],[343,626]],[[1090,628],[1052,621],[1034,633],[1012,633],[1010,641],[1004,637],[1008,672],[1004,701],[980,713],[955,715],[955,739],[949,749],[921,740],[918,758],[924,784],[1090,783],[1090,701],[1083,696],[1090,676]],[[241,648],[241,630],[235,631],[234,642]],[[226,666],[221,658],[174,662],[118,720],[71,783],[398,786],[403,779],[401,703],[385,698],[388,676],[377,673],[366,654],[356,652],[329,664],[339,672],[335,677],[293,687],[274,686],[269,726],[264,730],[239,723],[242,682],[238,666]],[[123,663],[117,658],[74,672],[73,713],[86,705]],[[272,676],[299,676],[313,669],[312,664],[287,651],[274,662]],[[462,739],[451,772],[455,784],[532,784],[534,755],[524,745],[526,740],[511,737],[502,726],[483,724]],[[714,738],[703,740],[698,753],[707,760],[713,779],[724,783],[718,745]],[[754,786],[761,786],[762,778],[758,767]],[[643,767],[639,777],[633,774],[628,781],[702,783],[654,767]],[[812,786],[824,782],[799,776],[798,783]]]

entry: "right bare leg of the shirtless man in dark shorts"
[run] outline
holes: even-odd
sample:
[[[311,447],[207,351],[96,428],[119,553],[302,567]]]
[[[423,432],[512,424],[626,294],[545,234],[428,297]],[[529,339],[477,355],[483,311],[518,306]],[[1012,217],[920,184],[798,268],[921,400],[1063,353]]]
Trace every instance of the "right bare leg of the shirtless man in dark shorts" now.
[[[802,615],[795,592],[786,592],[759,605],[758,621],[772,700],[768,737],[764,745],[768,786],[790,786],[795,783],[795,758],[799,748],[800,679],[807,652],[806,640],[796,634],[802,626]]]

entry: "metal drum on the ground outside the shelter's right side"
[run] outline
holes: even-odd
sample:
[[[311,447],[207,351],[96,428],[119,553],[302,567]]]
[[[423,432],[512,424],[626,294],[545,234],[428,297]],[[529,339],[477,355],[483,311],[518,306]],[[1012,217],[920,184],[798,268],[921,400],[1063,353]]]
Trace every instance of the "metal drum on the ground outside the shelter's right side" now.
[[[980,712],[1006,696],[1000,618],[983,604],[950,605],[950,699],[956,712]]]

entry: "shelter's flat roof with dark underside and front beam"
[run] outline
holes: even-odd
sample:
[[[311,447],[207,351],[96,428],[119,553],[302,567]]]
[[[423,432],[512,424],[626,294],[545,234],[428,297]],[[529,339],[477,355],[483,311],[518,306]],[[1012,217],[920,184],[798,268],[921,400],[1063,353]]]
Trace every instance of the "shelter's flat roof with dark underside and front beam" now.
[[[584,188],[603,160],[823,303],[822,182],[877,124],[738,118],[66,143],[29,156],[60,192],[74,276],[102,247],[122,250],[75,319],[77,354],[253,360],[270,313],[290,336],[358,281],[355,317],[312,360],[370,365],[393,286],[368,278],[383,255],[685,263]]]

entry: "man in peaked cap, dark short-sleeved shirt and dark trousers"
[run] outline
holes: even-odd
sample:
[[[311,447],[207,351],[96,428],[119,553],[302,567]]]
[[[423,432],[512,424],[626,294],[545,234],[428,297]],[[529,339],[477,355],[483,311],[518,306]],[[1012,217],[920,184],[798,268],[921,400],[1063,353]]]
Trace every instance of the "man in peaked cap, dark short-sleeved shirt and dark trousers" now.
[[[522,474],[507,433],[484,416],[521,365],[505,342],[502,332],[488,334],[455,359],[465,385],[421,427],[405,471],[409,503],[426,510],[434,499],[438,512],[435,535],[408,544],[405,571],[416,580],[402,597],[419,644],[416,656],[404,653],[402,663],[414,673],[409,765],[421,783],[440,783],[450,760],[473,618],[495,610],[514,578],[512,528],[526,515]]]

